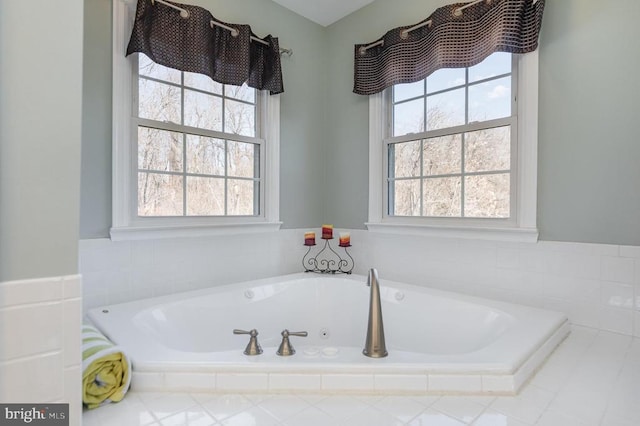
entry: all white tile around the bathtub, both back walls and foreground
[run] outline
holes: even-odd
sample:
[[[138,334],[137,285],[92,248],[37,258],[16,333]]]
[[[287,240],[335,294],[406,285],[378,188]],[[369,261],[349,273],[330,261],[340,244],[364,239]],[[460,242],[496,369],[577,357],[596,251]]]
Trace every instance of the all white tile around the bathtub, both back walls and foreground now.
[[[81,241],[85,310],[298,272],[304,231]],[[198,393],[195,385],[210,388],[211,377],[176,375],[158,381],[153,376],[138,384],[163,389],[170,380],[185,385],[188,393],[141,392],[134,382],[122,403],[85,411],[83,424],[631,426],[640,421],[640,340],[630,336],[640,335],[640,247],[433,239],[361,230],[351,234],[354,272],[376,267],[382,284],[387,278],[560,310],[577,326],[517,396],[332,396],[313,393],[321,380],[313,375],[278,383],[250,374],[229,378],[229,386],[216,393]],[[422,392],[422,382],[405,379]],[[393,383],[374,378],[374,386],[396,386],[397,380],[403,378]],[[294,382],[299,392],[286,393]],[[275,390],[282,385],[285,393],[247,394],[244,388],[234,390],[239,385],[256,392],[260,386]]]

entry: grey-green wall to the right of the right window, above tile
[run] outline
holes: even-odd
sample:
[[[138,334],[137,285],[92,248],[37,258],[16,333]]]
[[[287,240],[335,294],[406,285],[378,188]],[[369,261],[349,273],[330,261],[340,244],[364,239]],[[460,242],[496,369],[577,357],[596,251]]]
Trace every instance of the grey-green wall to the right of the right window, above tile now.
[[[640,2],[555,0],[545,14],[541,236],[640,245]]]

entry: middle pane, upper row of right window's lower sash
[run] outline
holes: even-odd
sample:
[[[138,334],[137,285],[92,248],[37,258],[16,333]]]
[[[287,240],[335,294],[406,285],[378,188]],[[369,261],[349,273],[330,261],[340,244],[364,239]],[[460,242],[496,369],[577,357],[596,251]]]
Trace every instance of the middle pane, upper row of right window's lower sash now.
[[[424,175],[462,172],[462,135],[443,136],[424,141]]]

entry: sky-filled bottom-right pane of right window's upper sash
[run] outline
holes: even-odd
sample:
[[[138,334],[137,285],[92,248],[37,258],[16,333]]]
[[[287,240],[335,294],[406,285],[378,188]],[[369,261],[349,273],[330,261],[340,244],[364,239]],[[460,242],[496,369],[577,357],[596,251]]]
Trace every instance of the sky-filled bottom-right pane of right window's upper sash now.
[[[469,121],[485,121],[511,115],[511,77],[469,86]]]

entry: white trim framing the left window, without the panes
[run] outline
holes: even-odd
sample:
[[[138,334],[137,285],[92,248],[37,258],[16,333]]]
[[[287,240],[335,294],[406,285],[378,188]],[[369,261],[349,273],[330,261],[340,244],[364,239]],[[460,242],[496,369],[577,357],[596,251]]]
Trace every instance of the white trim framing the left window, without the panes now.
[[[136,220],[137,201],[133,167],[135,152],[131,141],[136,126],[132,122],[131,94],[135,87],[132,61],[125,58],[131,34],[135,2],[113,1],[113,167],[111,239],[135,240],[172,237],[228,235],[271,232],[280,229],[280,95],[260,96],[259,114],[265,140],[261,173],[264,185],[264,212],[258,217],[148,218]],[[262,161],[262,160],[261,160]]]

